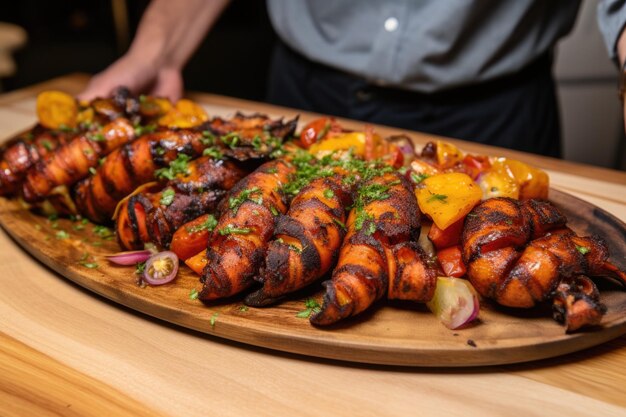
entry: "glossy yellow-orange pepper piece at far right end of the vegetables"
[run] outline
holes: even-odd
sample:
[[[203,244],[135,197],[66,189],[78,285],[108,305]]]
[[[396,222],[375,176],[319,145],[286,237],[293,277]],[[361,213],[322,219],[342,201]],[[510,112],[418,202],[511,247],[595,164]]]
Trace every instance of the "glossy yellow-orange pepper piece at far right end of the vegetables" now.
[[[497,158],[493,170],[507,174],[519,186],[519,199],[548,198],[550,180],[544,171],[515,159]]]

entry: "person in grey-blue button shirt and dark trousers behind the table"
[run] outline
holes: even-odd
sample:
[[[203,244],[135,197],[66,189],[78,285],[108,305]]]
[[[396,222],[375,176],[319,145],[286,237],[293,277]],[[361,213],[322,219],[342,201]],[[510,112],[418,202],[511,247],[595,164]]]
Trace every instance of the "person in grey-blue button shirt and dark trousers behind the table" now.
[[[96,75],[82,98],[125,84],[177,99],[182,67],[227,3],[154,0],[129,51]],[[615,42],[626,21],[619,3],[603,1],[599,9],[605,34]],[[267,4],[281,40],[272,57],[269,102],[560,156],[552,56],[573,27],[580,1]]]

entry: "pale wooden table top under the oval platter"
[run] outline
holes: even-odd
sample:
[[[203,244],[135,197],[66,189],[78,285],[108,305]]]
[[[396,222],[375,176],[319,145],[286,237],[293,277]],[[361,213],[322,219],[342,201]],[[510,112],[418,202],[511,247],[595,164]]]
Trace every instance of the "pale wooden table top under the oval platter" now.
[[[85,81],[70,75],[0,95],[0,138],[35,122],[39,91],[77,93]],[[208,94],[190,98],[210,114],[314,117]],[[431,138],[411,136],[420,143]],[[625,172],[452,142],[544,168],[554,188],[626,221]],[[114,304],[38,263],[4,231],[0,248],[1,416],[626,415],[626,336],[555,359],[498,367],[321,360],[199,334]]]

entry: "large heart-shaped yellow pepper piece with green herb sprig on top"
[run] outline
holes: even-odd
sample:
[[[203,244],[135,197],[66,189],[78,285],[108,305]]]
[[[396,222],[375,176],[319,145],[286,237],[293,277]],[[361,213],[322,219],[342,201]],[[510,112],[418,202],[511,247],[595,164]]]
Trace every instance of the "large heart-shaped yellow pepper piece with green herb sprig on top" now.
[[[415,194],[420,210],[442,230],[465,217],[482,197],[469,175],[460,172],[428,177]]]

